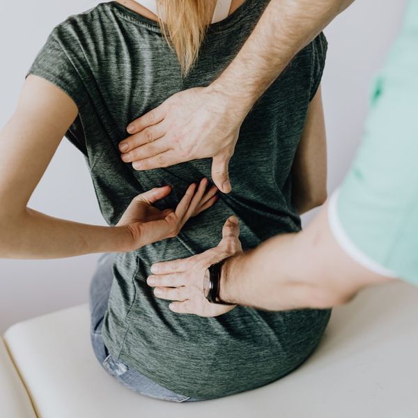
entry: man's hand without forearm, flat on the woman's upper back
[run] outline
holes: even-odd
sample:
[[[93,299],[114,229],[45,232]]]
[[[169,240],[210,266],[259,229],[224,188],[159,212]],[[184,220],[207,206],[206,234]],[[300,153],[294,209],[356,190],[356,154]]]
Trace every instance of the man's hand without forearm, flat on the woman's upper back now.
[[[212,180],[229,193],[228,164],[242,120],[225,96],[210,88],[181,91],[130,124],[132,135],[119,144],[121,158],[134,169],[150,170],[212,157]]]

